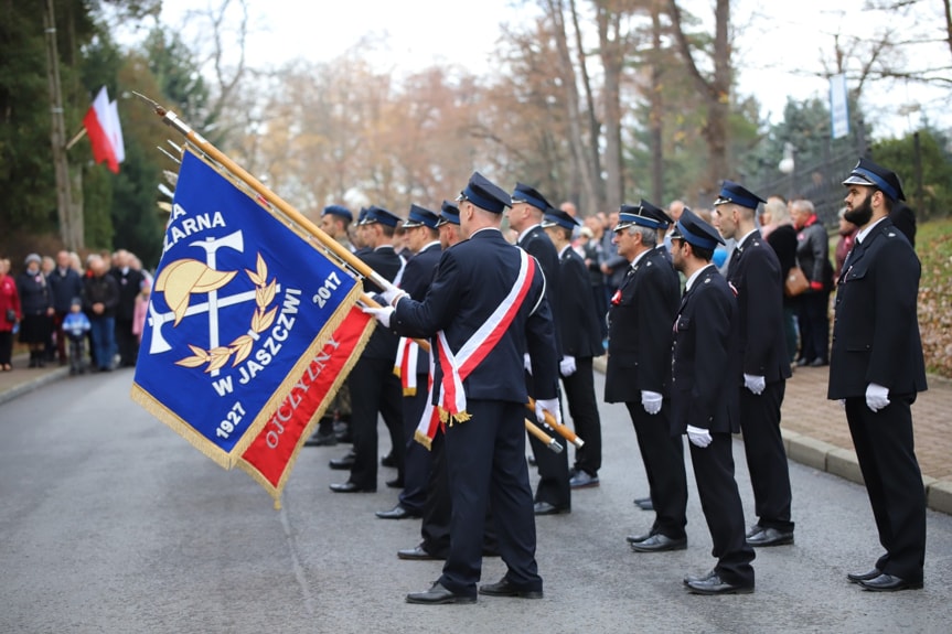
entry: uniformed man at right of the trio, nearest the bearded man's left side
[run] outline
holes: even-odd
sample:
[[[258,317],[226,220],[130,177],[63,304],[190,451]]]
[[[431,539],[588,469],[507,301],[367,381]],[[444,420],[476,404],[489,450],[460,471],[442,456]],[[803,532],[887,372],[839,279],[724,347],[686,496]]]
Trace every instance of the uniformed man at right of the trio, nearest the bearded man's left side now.
[[[753,487],[757,524],[751,546],[793,544],[790,470],[780,434],[780,406],[790,378],[783,332],[783,278],[780,260],[756,225],[763,198],[724,181],[714,202],[714,226],[737,240],[727,281],[737,293],[744,385],[739,387],[740,429]]]

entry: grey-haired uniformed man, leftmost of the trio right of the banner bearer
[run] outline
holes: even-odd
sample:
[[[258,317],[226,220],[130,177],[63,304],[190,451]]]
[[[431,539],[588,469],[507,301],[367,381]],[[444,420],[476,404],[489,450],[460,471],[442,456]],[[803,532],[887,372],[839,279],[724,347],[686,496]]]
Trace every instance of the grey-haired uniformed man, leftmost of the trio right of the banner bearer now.
[[[684,440],[671,427],[671,325],[681,282],[655,248],[659,223],[648,215],[649,204],[622,205],[614,227],[629,269],[608,309],[605,378],[605,400],[623,402],[631,416],[655,511],[651,530],[628,538],[637,552],[687,548]]]

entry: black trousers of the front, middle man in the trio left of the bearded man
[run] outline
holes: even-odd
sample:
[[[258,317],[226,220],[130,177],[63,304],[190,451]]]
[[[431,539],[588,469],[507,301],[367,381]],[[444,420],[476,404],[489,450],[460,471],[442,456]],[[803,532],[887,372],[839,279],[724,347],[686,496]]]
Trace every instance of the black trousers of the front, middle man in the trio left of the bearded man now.
[[[702,449],[691,445],[691,463],[697,481],[700,508],[714,541],[714,569],[724,581],[735,585],[753,585],[756,557],[747,544],[744,507],[734,480],[734,454],[729,433],[710,434],[714,441]]]

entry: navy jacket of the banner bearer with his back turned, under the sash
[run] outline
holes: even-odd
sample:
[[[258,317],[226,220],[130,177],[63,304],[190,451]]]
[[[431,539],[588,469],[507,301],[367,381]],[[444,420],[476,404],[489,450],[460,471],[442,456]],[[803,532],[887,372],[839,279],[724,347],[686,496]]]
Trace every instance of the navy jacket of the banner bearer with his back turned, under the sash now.
[[[482,229],[442,252],[432,286],[422,302],[397,302],[391,327],[403,336],[446,333],[450,350],[460,346],[509,294],[518,276],[521,255],[496,229]],[[536,398],[556,397],[558,356],[545,278],[538,264],[532,287],[513,322],[482,362],[463,380],[468,398],[526,402],[523,353],[532,355]],[[437,359],[435,382],[442,380]]]

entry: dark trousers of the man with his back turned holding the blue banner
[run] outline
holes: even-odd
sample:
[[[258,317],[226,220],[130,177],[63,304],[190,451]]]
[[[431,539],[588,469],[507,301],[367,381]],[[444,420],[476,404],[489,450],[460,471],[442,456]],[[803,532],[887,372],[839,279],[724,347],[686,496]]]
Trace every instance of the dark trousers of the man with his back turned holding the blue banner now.
[[[525,405],[470,399],[467,410],[472,418],[446,433],[452,540],[439,581],[452,592],[475,595],[483,522],[491,504],[506,579],[523,590],[542,590],[525,462]]]

